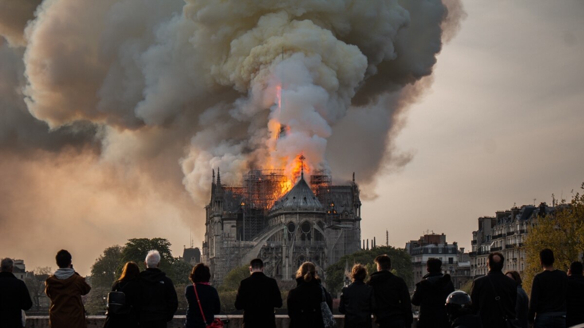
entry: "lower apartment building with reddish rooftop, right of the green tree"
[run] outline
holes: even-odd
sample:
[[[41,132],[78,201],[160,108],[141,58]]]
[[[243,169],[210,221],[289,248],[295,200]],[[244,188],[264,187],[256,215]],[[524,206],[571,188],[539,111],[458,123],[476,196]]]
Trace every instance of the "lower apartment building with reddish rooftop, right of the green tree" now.
[[[413,291],[415,284],[427,274],[426,262],[430,258],[442,261],[444,274],[450,274],[454,287],[460,288],[470,279],[470,259],[464,253],[464,247],[458,249],[456,242],[446,242],[444,233],[426,233],[418,240],[410,240],[405,245],[406,252],[412,259],[413,284],[409,286]]]

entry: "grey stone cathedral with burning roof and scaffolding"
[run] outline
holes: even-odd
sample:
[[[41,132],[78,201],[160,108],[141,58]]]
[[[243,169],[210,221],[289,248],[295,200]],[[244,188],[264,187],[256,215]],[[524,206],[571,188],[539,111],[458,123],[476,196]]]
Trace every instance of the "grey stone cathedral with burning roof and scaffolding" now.
[[[315,170],[310,186],[304,173],[290,190],[284,170],[251,170],[241,186],[223,186],[213,172],[206,209],[202,260],[221,284],[234,267],[260,257],[264,272],[292,280],[298,266],[312,261],[320,274],[345,254],[360,249],[361,202],[354,181],[332,184]]]

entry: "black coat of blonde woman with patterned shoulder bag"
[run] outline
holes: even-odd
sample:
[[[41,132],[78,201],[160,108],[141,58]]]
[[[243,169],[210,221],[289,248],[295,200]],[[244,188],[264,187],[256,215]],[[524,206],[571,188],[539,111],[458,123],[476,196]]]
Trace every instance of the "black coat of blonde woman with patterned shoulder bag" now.
[[[296,288],[288,292],[288,316],[290,328],[323,328],[321,302],[322,285],[320,280],[304,281],[302,277],[296,279]],[[332,298],[325,289],[325,301],[332,311]]]

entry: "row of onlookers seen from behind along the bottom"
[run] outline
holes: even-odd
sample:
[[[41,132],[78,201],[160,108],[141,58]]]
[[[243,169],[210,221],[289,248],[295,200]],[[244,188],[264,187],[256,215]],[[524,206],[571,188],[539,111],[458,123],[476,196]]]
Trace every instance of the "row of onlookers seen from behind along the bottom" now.
[[[60,250],[55,257],[58,269],[47,278],[45,292],[51,300],[49,323],[53,328],[86,327],[81,296],[91,287],[72,268],[71,254]],[[161,256],[148,252],[145,270],[127,262],[120,278],[108,295],[104,327],[166,327],[178,308],[178,296],[170,278],[158,266]],[[367,270],[355,264],[352,283],[343,287],[339,312],[345,315],[346,328],[372,326],[380,328],[411,327],[412,304],[419,306],[417,327],[458,328],[553,328],[584,324],[584,277],[582,263],[573,262],[568,274],[554,267],[554,253],[540,252],[543,271],[538,273],[528,298],[516,271],[503,274],[505,258],[489,254],[488,274],[474,280],[470,295],[454,291],[449,274],[442,273],[442,261],[429,259],[428,273],[416,284],[410,297],[405,281],[391,272],[391,259],[377,256],[377,272],[365,281]],[[12,259],[2,259],[0,272],[0,327],[22,327],[23,310],[32,301],[23,281],[12,274]],[[283,305],[276,280],[263,274],[263,262],[249,264],[250,275],[241,281],[235,308],[243,310],[244,327],[275,328],[274,309]],[[190,275],[192,285],[185,289],[189,304],[186,327],[221,327],[215,319],[221,310],[217,290],[210,285],[209,268],[200,263]],[[332,298],[321,283],[317,267],[301,264],[296,273],[296,287],[286,299],[290,327],[329,328],[334,325]],[[584,326],[583,326],[584,327]]]

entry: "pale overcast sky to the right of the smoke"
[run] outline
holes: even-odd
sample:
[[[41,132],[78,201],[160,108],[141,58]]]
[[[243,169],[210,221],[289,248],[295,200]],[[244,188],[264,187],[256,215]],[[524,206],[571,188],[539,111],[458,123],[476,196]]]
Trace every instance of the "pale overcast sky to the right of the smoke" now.
[[[396,144],[412,152],[363,202],[363,238],[427,230],[470,249],[477,218],[569,201],[584,182],[584,2],[465,1],[434,83]]]

